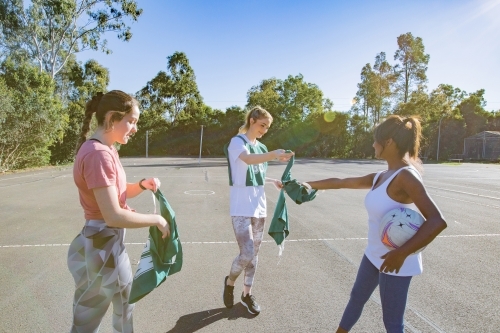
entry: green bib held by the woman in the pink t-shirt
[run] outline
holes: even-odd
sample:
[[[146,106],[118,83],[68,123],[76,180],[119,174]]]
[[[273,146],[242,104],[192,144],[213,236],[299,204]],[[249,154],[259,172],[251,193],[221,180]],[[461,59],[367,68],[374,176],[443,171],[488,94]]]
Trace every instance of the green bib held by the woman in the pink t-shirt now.
[[[175,212],[163,193],[154,193],[160,213],[170,225],[170,236],[162,239],[157,227],[149,227],[149,238],[135,272],[129,303],[135,303],[162,284],[169,275],[182,268],[182,245],[175,223]]]

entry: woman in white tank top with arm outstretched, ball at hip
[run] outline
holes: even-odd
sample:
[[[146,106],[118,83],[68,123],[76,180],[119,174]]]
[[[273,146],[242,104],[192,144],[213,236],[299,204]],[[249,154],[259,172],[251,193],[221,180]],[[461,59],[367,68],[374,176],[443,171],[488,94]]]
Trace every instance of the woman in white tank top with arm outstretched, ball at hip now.
[[[307,182],[313,189],[370,190],[365,197],[368,246],[337,333],[351,330],[377,286],[387,332],[403,332],[410,281],[413,276],[422,273],[421,253],[415,252],[432,242],[446,228],[446,222],[425,190],[419,173],[420,139],[418,119],[390,116],[375,128],[373,143],[375,157],[387,162],[387,170],[362,177]],[[379,224],[385,213],[398,207],[420,211],[426,222],[403,246],[389,251],[380,239]]]

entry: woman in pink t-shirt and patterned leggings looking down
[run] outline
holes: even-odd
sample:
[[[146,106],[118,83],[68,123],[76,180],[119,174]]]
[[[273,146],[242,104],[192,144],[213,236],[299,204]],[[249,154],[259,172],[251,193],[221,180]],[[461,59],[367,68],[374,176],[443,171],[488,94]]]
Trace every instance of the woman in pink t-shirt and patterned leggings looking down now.
[[[94,113],[98,127],[87,140]],[[71,332],[97,332],[111,303],[113,332],[133,332],[134,305],[128,303],[133,276],[123,244],[125,228],[157,226],[164,238],[169,235],[161,215],[136,213],[126,203],[160,185],[156,178],[127,183],[113,146],[126,144],[137,132],[139,115],[137,101],[119,90],[98,94],[86,105],[73,168],[86,222],[68,252],[76,284]]]

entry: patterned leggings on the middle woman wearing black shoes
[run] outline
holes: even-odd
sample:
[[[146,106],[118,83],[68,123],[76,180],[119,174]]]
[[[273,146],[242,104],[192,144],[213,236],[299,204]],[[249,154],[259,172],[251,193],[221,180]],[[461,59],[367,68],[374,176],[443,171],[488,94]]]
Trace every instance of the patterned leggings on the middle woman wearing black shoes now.
[[[236,281],[245,270],[244,284],[251,287],[257,269],[258,253],[264,236],[266,218],[231,216],[240,254],[234,259],[229,279]]]

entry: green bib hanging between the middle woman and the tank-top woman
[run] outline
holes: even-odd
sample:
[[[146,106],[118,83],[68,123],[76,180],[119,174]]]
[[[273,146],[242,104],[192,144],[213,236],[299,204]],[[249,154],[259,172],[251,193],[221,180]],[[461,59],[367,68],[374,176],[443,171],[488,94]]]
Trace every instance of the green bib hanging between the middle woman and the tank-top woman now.
[[[287,150],[287,152],[290,151]],[[281,176],[283,190],[280,191],[278,202],[276,203],[276,208],[274,210],[273,219],[271,220],[271,225],[269,226],[268,234],[274,239],[277,245],[281,245],[290,233],[285,192],[298,205],[302,204],[303,202],[313,200],[316,197],[316,192],[318,192],[318,190],[309,192],[308,189],[305,186],[299,184],[297,180],[291,179],[292,175],[290,170],[293,166],[294,161],[295,156],[292,156],[290,161],[288,161],[283,175]]]

